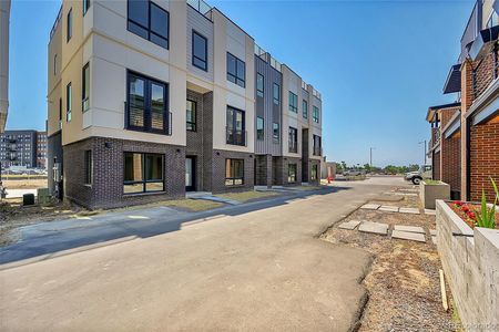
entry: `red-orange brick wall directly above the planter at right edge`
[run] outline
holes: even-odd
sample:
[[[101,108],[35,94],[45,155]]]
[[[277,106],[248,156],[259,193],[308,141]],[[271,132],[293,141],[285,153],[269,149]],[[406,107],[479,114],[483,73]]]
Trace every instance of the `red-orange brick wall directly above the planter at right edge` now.
[[[485,189],[488,201],[493,201],[490,178],[499,185],[499,115],[486,124],[471,126],[469,167],[469,200],[480,200]]]

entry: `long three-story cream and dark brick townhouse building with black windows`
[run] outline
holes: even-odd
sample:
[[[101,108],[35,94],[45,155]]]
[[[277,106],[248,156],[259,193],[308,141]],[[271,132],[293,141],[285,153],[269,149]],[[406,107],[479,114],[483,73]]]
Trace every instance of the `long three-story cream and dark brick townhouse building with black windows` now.
[[[49,187],[80,205],[318,180],[320,94],[203,1],[64,0],[48,81]]]

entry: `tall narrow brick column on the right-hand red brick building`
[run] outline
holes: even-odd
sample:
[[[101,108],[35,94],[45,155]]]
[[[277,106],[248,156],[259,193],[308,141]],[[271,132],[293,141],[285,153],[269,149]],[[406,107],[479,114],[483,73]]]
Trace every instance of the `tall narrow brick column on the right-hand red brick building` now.
[[[461,199],[468,199],[468,125],[465,114],[473,102],[472,63],[467,59],[461,65]]]

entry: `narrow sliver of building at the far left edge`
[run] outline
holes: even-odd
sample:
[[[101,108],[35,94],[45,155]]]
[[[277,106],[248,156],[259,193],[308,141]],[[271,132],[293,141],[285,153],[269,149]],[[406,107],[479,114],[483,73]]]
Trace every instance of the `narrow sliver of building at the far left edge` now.
[[[0,134],[6,129],[9,108],[10,0],[0,1]]]

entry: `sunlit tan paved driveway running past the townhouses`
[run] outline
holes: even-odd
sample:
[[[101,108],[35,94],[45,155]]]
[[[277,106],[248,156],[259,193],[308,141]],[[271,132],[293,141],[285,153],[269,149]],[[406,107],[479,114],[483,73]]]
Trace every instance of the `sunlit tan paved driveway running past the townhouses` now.
[[[0,330],[347,331],[370,257],[317,236],[390,185],[345,183],[336,193],[0,267]]]

